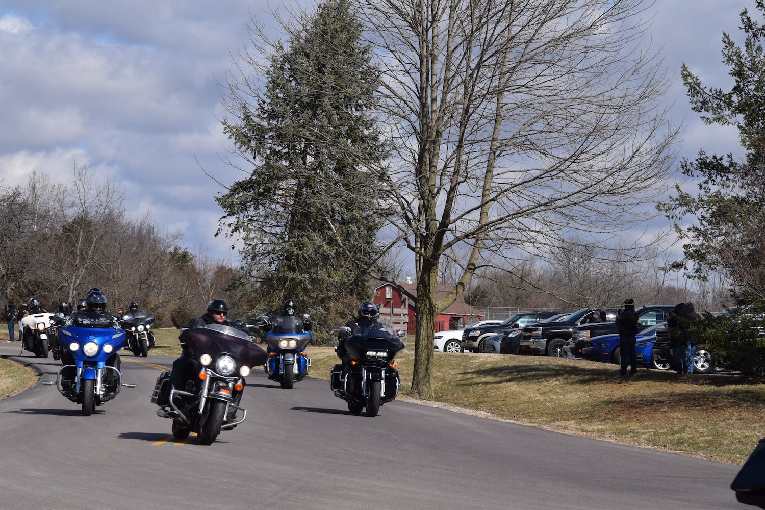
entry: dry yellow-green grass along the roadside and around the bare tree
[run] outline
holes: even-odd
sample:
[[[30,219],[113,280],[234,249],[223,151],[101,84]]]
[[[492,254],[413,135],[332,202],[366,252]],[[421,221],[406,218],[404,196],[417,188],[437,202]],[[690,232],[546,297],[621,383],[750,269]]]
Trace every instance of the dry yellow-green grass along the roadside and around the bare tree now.
[[[152,354],[180,353],[177,330],[155,334]],[[413,344],[410,339],[410,349],[397,357],[399,398],[407,398],[412,385]],[[334,349],[311,346],[308,354],[309,375],[328,381]],[[23,376],[8,371],[16,369],[0,360],[0,398],[28,387],[15,383]],[[435,353],[433,370],[435,402],[429,404],[566,434],[735,464],[765,436],[765,385],[759,380],[647,369],[622,379],[616,365],[599,362],[442,352]],[[34,384],[34,374],[28,380]],[[9,383],[15,389],[6,389]]]

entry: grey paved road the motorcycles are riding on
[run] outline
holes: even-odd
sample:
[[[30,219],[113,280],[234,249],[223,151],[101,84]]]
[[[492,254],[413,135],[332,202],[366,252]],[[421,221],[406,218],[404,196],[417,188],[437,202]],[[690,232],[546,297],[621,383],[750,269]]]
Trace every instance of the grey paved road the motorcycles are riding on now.
[[[18,350],[0,356],[54,379]],[[285,390],[262,370],[243,424],[176,441],[149,399],[171,359],[122,359],[137,386],[90,417],[40,383],[0,401],[0,508],[752,508],[729,489],[738,466],[403,401],[354,416],[326,382]]]

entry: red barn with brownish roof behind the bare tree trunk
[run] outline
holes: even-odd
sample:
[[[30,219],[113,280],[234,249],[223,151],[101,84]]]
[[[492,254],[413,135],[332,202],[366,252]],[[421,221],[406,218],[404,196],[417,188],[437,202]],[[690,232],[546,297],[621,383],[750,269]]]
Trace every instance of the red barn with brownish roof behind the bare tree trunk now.
[[[410,300],[409,296],[402,294],[399,287],[383,283],[375,287],[372,302],[379,308],[382,320],[389,320],[396,330],[406,330],[407,333],[413,335],[415,334],[416,285],[407,283],[403,284],[402,287],[414,294],[415,300]],[[441,297],[445,297],[451,289],[452,287],[449,285],[436,285],[435,299],[439,300]],[[477,320],[483,320],[483,313],[466,304],[464,297],[460,295],[451,306],[438,314],[435,320],[435,330],[459,330]]]

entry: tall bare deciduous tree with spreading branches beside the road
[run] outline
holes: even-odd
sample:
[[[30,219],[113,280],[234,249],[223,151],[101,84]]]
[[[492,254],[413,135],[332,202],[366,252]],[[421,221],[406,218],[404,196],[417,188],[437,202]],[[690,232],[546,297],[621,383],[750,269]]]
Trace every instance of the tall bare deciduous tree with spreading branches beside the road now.
[[[412,394],[432,398],[435,317],[477,268],[519,250],[545,259],[575,234],[580,251],[653,215],[674,161],[667,80],[641,47],[641,0],[358,6],[384,70],[399,148],[389,186],[415,259]],[[459,246],[461,274],[435,301],[441,257]]]

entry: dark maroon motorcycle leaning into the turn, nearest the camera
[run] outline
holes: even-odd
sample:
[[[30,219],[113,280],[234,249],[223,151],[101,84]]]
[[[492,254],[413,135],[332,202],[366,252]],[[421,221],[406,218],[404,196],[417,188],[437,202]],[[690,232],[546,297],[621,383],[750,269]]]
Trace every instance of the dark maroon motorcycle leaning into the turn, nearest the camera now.
[[[195,388],[174,388],[171,371],[162,372],[151,403],[159,406],[158,416],[172,419],[174,437],[184,439],[196,432],[200,443],[211,444],[222,430],[245,421],[247,410],[239,406],[244,378],[268,355],[243,330],[223,324],[182,330],[180,339],[200,365]]]

